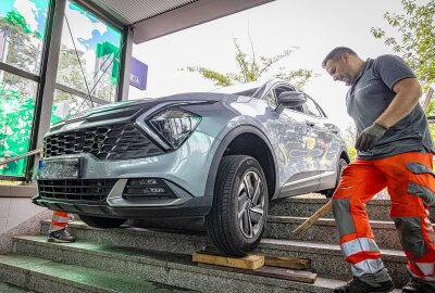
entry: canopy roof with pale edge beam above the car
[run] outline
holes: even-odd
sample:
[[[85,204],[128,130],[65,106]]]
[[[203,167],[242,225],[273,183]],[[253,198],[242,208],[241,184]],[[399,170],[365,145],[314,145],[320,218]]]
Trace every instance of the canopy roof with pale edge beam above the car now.
[[[134,42],[154,39],[274,0],[89,0],[120,24],[134,28]]]

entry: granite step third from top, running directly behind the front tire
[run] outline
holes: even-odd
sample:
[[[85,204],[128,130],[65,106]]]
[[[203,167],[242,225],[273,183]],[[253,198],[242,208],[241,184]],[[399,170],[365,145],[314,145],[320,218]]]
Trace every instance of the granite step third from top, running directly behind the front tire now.
[[[47,230],[48,222],[44,222],[42,234],[46,234]],[[191,255],[194,252],[211,245],[207,234],[199,232],[185,233],[126,226],[102,230],[88,227],[80,221],[72,222],[70,230],[77,237],[78,242],[95,242],[166,253]],[[330,278],[347,280],[351,277],[349,266],[345,263],[338,245],[263,238],[258,251],[273,255],[310,258],[313,270]],[[396,283],[405,284],[408,281],[405,254],[395,250],[382,251],[385,265]]]

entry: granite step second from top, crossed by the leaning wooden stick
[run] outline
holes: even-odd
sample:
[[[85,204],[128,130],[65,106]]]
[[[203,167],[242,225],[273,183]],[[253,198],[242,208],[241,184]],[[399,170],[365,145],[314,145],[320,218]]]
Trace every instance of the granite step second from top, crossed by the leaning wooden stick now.
[[[338,243],[338,229],[334,219],[321,218],[310,229],[293,234],[307,217],[269,216],[264,237],[274,239],[300,240],[319,243]],[[401,250],[399,237],[393,221],[370,221],[377,245],[381,249]]]

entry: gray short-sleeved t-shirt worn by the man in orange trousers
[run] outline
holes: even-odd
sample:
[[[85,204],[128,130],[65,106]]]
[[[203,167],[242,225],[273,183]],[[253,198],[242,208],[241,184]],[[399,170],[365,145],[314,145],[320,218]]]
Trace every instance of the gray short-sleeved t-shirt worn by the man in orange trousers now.
[[[396,95],[393,86],[409,77],[415,75],[398,56],[381,55],[366,60],[346,97],[347,112],[353,118],[358,133],[371,126],[387,109]],[[358,156],[370,160],[412,151],[434,152],[427,119],[420,104],[390,127],[371,151],[358,152]]]

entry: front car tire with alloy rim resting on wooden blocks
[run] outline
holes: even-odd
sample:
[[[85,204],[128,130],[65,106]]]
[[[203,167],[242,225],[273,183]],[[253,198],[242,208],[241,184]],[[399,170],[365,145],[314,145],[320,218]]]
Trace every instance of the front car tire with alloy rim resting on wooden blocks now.
[[[236,256],[254,250],[264,231],[268,208],[268,184],[257,160],[248,155],[224,156],[207,217],[208,234],[214,245]]]

